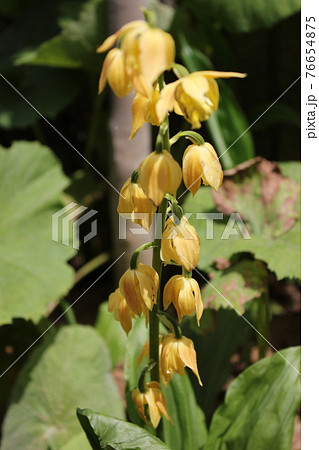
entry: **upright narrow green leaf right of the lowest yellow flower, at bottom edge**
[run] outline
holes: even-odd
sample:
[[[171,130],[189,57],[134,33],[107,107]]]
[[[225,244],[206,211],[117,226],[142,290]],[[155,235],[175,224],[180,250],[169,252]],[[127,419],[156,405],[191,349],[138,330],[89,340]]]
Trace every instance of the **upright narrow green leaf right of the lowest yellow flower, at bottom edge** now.
[[[204,388],[202,388],[204,389]],[[167,387],[162,387],[172,426],[164,420],[164,440],[172,450],[200,450],[206,443],[207,428],[203,411],[187,373],[174,375]]]

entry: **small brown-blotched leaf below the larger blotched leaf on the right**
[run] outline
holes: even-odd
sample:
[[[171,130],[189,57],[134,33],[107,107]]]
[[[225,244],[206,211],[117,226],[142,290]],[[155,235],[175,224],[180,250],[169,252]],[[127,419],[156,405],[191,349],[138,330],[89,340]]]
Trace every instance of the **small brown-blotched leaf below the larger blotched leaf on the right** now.
[[[208,277],[216,291],[209,284],[204,287],[205,307],[218,310],[231,307],[230,303],[241,314],[245,312],[246,303],[259,298],[268,286],[266,266],[256,260],[242,260],[224,270],[212,268]]]

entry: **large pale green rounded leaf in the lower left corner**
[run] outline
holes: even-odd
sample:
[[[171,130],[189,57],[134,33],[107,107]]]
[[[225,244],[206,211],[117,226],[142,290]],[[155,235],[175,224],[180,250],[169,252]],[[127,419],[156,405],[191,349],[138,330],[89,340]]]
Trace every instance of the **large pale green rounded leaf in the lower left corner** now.
[[[3,425],[2,449],[56,450],[77,441],[79,406],[123,418],[110,369],[108,349],[93,328],[60,328],[20,373]]]

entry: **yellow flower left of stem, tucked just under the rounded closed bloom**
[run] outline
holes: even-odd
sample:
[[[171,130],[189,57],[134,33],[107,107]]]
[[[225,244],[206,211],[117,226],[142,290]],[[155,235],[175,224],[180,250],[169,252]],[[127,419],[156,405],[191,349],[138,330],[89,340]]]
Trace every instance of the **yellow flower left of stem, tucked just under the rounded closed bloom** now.
[[[133,223],[138,223],[145,230],[149,231],[156,206],[145,195],[141,185],[131,181],[131,177],[124,183],[119,197],[117,212],[125,217],[130,214]]]

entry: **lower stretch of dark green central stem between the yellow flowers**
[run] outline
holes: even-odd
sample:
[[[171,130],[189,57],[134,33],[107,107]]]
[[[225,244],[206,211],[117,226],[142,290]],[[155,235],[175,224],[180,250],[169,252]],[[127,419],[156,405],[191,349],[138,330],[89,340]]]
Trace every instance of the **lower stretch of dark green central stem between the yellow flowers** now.
[[[165,226],[166,220],[166,210],[167,210],[168,200],[163,199],[162,203],[158,208],[157,218],[157,229],[161,232]],[[157,293],[157,303],[153,306],[152,311],[149,313],[149,338],[150,338],[150,359],[156,362],[156,365],[151,370],[151,380],[159,381],[159,319],[158,311],[161,306],[161,278],[162,278],[162,267],[163,263],[161,260],[161,238],[155,239],[156,247],[153,250],[153,268],[156,270],[159,276],[159,289]]]

